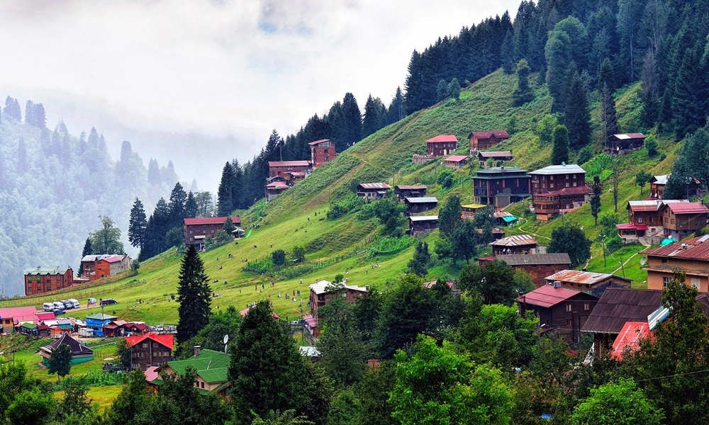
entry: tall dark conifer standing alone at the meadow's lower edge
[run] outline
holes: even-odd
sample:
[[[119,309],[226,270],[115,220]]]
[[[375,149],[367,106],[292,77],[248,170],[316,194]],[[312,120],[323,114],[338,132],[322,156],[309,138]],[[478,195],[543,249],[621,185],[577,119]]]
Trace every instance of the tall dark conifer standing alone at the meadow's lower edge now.
[[[209,323],[211,289],[208,280],[194,245],[188,246],[177,281],[177,344],[196,336]]]

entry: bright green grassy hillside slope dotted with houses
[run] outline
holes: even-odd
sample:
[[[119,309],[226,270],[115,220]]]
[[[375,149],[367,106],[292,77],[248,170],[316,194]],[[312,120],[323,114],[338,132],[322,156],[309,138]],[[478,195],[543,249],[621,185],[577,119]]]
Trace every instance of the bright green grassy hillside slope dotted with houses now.
[[[535,79],[532,78],[532,81]],[[243,215],[245,225],[255,225],[245,239],[201,254],[212,281],[212,290],[218,295],[213,298],[213,308],[234,305],[242,310],[249,303],[270,296],[277,314],[284,319],[295,319],[301,316],[301,310],[304,314],[308,313],[308,284],[322,279],[333,280],[337,273],[345,275],[348,283],[354,285],[374,285],[378,288],[389,285],[397,276],[405,273],[406,263],[413,255],[415,239],[382,238],[379,236],[381,226],[376,219],[357,220],[354,213],[337,220],[327,220],[325,212],[330,208],[330,203],[344,199],[352,193],[357,183],[367,181],[421,182],[428,185],[430,196],[437,196],[441,205],[452,194],[460,196],[463,203],[470,202],[473,196],[469,177],[474,174],[476,162],[455,171],[454,186],[445,189],[436,183],[436,176],[444,167],[436,161],[414,165],[411,155],[425,153],[425,140],[439,134],[456,135],[459,152],[467,154],[469,132],[501,128],[509,130],[510,119],[513,119],[517,131],[510,140],[498,145],[496,149],[513,150],[517,159],[510,164],[512,166],[536,169],[548,165],[551,145],[540,145],[532,130],[537,121],[549,113],[552,99],[544,86],[537,86],[535,100],[515,108],[512,106],[515,83],[514,75],[501,71],[490,74],[462,91],[459,100],[448,99],[389,125],[342,152],[332,162],[321,166],[272,202],[265,204],[259,201]],[[638,89],[635,85],[618,91],[618,114],[622,131],[640,130],[634,124],[639,107]],[[592,113],[592,116],[596,115]],[[654,159],[650,159],[644,149],[623,157],[618,202],[621,217],[625,214],[627,200],[640,196],[640,188],[634,185],[637,171],[645,169],[652,174],[668,172],[677,147],[672,142],[660,140],[659,151],[662,154]],[[574,155],[576,153],[572,153]],[[598,173],[601,163],[600,159],[592,159],[583,166],[587,170],[593,168],[593,173]],[[602,175],[607,177],[608,172]],[[604,183],[601,214],[613,211],[610,183]],[[646,187],[645,193],[647,190]],[[524,209],[525,205],[511,207],[518,215],[523,215]],[[583,226],[591,239],[595,239],[601,232],[600,225],[593,225],[588,205],[547,223],[535,222],[532,217],[527,217],[521,228],[511,228],[508,232],[532,232],[545,244],[552,229],[562,225],[564,220]],[[437,232],[428,235],[426,239],[432,251],[437,241]],[[601,251],[596,245],[600,246],[594,243],[594,255],[589,267],[596,271],[614,271],[618,268],[618,261],[612,261],[610,257],[607,265],[603,266]],[[301,265],[286,268],[275,276],[243,270],[247,265],[246,260],[252,268],[258,268],[261,260],[269,257],[272,251],[284,249],[290,252],[295,246],[306,249],[306,262]],[[614,255],[625,261],[639,250],[640,246],[630,246]],[[106,307],[105,312],[108,314],[115,314],[121,319],[143,320],[150,324],[174,324],[177,322],[177,305],[172,295],[177,292],[180,259],[178,254],[167,252],[144,262],[138,276],[118,279],[94,288],[9,300],[0,305],[39,307],[47,300],[59,298],[75,297],[84,302],[87,297],[113,297],[118,300],[118,304]],[[454,278],[463,265],[436,263],[427,277],[430,280]],[[625,273],[634,280],[635,285],[642,285],[644,276],[639,271],[637,261],[628,261]],[[269,284],[271,281],[274,281],[273,287]],[[298,290],[301,291],[300,295]],[[289,293],[287,298],[284,296],[286,293]],[[98,307],[91,310],[96,312]],[[81,316],[78,312],[68,313]]]

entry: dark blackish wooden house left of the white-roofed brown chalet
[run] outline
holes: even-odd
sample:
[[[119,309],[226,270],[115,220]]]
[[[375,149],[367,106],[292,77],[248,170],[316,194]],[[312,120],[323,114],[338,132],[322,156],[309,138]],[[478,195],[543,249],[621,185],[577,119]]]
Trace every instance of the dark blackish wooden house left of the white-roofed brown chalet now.
[[[531,178],[527,171],[494,166],[473,176],[475,203],[505,208],[510,203],[528,198]]]

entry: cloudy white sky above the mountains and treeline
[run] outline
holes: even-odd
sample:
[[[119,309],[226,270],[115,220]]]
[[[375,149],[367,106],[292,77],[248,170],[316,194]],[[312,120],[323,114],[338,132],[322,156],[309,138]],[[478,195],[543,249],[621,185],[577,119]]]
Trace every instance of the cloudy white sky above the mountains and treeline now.
[[[128,140],[147,167],[216,192],[273,129],[297,132],[352,92],[389,105],[414,49],[520,0],[7,0],[0,96],[43,103],[47,126],[95,127],[114,159]]]

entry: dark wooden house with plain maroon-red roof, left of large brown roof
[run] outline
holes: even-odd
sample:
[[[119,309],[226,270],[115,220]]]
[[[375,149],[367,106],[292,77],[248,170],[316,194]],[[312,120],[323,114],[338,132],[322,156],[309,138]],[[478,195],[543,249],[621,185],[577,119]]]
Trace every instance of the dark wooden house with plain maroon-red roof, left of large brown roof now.
[[[539,317],[542,331],[554,331],[571,344],[578,342],[581,327],[596,307],[598,297],[578,290],[544,285],[517,299],[520,314]]]

